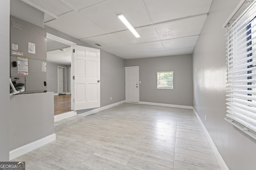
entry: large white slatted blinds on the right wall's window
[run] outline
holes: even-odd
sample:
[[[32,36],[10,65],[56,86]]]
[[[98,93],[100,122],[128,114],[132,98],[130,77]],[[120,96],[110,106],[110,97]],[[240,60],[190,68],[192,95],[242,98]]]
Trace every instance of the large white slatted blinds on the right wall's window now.
[[[227,26],[228,106],[225,119],[256,139],[255,0],[240,14]]]

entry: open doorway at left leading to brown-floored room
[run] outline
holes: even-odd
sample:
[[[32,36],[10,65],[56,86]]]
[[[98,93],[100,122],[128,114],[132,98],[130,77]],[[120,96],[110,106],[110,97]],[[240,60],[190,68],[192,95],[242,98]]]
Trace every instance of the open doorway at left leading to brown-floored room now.
[[[75,45],[76,43],[47,33],[47,74],[50,74],[47,76],[47,91],[54,92],[55,116],[64,116],[64,113],[70,114],[73,111],[71,75],[72,50]]]

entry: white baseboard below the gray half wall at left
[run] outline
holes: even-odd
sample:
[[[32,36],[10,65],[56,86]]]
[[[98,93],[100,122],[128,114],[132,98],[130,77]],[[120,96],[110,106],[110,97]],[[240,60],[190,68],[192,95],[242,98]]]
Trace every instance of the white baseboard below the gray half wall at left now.
[[[44,137],[42,139],[38,139],[37,141],[34,141],[34,142],[29,143],[27,145],[24,145],[22,147],[19,147],[17,149],[11,150],[9,152],[9,156],[10,156],[9,160],[12,160],[14,158],[17,158],[17,157],[19,157],[19,156],[21,156],[23,154],[26,154],[26,153],[32,151],[34,149],[42,147],[42,146],[44,146],[44,145],[46,145],[46,144],[48,144],[48,143],[50,143],[50,142],[52,142],[54,140],[56,140],[55,133],[52,134],[52,135],[49,135],[47,137]]]

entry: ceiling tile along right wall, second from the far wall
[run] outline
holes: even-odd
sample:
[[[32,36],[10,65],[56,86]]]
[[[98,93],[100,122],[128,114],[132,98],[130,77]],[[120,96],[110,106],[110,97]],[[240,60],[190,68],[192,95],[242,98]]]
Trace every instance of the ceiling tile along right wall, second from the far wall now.
[[[168,39],[168,40],[163,40],[162,44],[164,46],[164,49],[166,50],[195,47],[198,37],[199,35],[195,35],[191,37]]]

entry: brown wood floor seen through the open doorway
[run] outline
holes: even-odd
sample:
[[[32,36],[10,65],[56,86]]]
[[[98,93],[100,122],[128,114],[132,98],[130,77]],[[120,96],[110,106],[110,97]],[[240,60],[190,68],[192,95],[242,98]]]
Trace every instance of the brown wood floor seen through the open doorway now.
[[[54,115],[71,111],[71,95],[62,94],[54,96]]]

